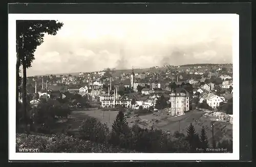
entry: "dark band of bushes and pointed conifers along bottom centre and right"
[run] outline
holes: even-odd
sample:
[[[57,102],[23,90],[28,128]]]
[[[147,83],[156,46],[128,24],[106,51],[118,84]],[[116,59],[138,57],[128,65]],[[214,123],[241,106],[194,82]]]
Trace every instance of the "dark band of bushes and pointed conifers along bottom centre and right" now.
[[[80,134],[86,139],[107,146],[116,146],[138,152],[209,152],[206,149],[212,148],[212,145],[209,146],[208,144],[204,128],[202,128],[199,136],[192,124],[187,129],[186,135],[179,132],[170,134],[153,128],[143,129],[137,124],[129,127],[122,111],[118,113],[112,130],[109,130],[108,127],[95,118],[89,117],[80,126]],[[217,148],[227,149],[223,152],[232,152],[231,141],[222,141],[218,144]],[[198,151],[199,149],[201,151]]]

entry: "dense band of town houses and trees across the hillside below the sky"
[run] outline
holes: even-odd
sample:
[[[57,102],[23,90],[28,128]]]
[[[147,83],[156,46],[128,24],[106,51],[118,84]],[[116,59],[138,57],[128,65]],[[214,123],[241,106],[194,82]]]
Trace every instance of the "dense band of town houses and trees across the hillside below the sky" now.
[[[156,69],[157,68],[157,69]],[[118,105],[138,109],[155,108],[159,98],[166,100],[172,115],[191,110],[194,100],[218,109],[228,103],[233,93],[233,74],[230,64],[163,65],[151,68],[113,71],[79,72],[76,75],[28,77],[30,93],[40,101],[80,94],[97,101],[101,108]]]

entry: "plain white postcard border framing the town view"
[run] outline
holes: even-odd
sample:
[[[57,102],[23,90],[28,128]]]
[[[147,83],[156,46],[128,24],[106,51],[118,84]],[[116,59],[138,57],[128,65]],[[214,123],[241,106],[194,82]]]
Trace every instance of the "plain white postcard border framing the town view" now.
[[[89,16],[89,17],[85,17]],[[92,17],[114,19],[151,15],[169,20],[233,20],[233,153],[16,153],[16,20],[83,20]],[[136,16],[135,16],[136,15]],[[239,15],[238,14],[9,14],[8,15],[8,121],[9,160],[239,160]]]

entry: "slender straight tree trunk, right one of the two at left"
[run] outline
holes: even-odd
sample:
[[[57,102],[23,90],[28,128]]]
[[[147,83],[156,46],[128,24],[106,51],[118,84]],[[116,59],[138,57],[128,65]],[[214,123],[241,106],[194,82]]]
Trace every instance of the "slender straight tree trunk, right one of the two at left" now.
[[[25,58],[23,58],[23,61],[25,61]],[[27,99],[26,99],[26,85],[27,85],[27,69],[24,65],[25,62],[23,62],[23,94],[22,94],[22,103],[23,103],[23,114],[24,114],[24,123],[27,125]]]

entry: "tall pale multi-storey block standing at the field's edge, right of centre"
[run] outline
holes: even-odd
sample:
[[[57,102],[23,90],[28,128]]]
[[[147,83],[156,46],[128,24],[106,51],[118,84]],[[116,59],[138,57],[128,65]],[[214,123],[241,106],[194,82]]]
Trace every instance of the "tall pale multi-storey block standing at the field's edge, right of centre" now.
[[[184,88],[176,88],[170,93],[170,113],[172,115],[182,114],[189,111],[189,93]]]

